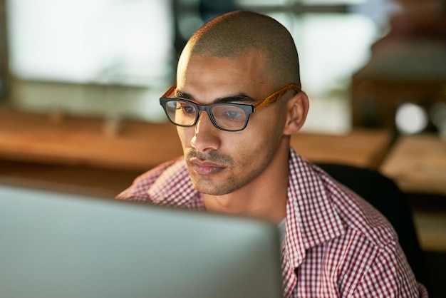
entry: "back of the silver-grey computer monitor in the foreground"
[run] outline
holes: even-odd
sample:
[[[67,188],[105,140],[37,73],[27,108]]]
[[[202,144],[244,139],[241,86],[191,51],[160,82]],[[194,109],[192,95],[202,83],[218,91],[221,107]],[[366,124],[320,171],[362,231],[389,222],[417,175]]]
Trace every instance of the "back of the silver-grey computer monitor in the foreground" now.
[[[0,297],[281,297],[269,222],[0,186]]]

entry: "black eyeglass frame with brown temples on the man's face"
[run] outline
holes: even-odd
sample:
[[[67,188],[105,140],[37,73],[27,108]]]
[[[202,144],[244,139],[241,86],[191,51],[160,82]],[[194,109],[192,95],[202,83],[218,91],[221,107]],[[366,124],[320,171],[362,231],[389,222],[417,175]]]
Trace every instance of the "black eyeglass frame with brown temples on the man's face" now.
[[[244,103],[212,103],[210,105],[199,105],[198,103],[194,103],[193,101],[188,101],[187,99],[184,98],[170,98],[167,96],[172,96],[172,93],[175,91],[175,88],[177,88],[177,84],[172,85],[172,87],[169,88],[169,90],[167,90],[163,96],[160,98],[160,105],[162,106],[162,108],[164,109],[167,118],[170,120],[171,123],[181,126],[181,127],[192,127],[194,125],[197,124],[198,118],[199,118],[199,112],[200,111],[206,111],[207,115],[209,115],[209,119],[211,119],[212,124],[214,124],[214,126],[216,128],[218,128],[219,130],[224,130],[224,131],[240,131],[240,130],[244,130],[247,125],[248,125],[248,120],[249,120],[249,116],[251,115],[251,113],[254,113],[254,111],[259,110],[260,108],[264,108],[265,106],[269,106],[269,104],[274,103],[276,101],[278,101],[282,96],[284,96],[284,94],[286,93],[286,91],[289,90],[294,90],[296,91],[296,93],[299,93],[301,91],[301,88],[294,83],[289,84],[288,86],[285,86],[284,88],[281,88],[279,91],[276,91],[274,93],[272,93],[270,96],[266,96],[266,98],[264,98],[262,101],[258,101],[252,105],[248,105],[248,104],[244,104]],[[184,102],[187,104],[190,104],[192,106],[195,107],[195,121],[194,123],[190,124],[190,125],[182,125],[182,124],[178,124],[175,123],[170,117],[169,117],[169,113],[167,113],[167,103],[169,101],[180,101],[180,102]],[[212,107],[214,106],[234,106],[237,108],[241,108],[246,114],[246,120],[244,121],[244,125],[242,128],[237,129],[237,130],[230,130],[227,128],[222,128],[221,126],[219,126],[217,124],[217,121],[214,118],[214,115],[212,115],[212,113],[209,113],[209,111],[211,110]]]

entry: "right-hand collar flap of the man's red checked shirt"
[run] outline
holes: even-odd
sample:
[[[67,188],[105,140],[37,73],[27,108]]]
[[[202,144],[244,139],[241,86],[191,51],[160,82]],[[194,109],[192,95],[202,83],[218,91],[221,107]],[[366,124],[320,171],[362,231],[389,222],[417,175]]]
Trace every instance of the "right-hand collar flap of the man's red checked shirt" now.
[[[286,257],[297,268],[311,247],[342,235],[343,224],[313,165],[290,148]]]

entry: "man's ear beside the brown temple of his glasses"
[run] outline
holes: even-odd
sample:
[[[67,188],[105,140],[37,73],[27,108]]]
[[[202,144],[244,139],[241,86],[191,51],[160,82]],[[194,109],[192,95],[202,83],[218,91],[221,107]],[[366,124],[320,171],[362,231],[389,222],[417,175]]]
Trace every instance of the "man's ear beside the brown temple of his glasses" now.
[[[305,123],[306,114],[310,103],[308,96],[304,91],[296,93],[286,103],[286,123],[284,127],[284,135],[292,135],[297,133]]]

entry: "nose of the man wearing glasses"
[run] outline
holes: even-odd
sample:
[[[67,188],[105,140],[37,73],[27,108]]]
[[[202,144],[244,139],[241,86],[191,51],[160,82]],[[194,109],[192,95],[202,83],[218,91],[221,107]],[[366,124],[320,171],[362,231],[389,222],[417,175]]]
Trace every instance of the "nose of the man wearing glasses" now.
[[[195,133],[190,143],[197,151],[207,153],[220,147],[219,132],[221,130],[214,126],[206,112],[199,113],[194,129]]]

